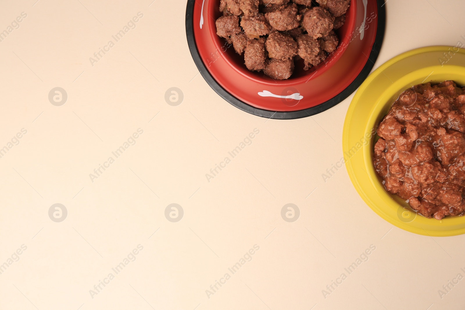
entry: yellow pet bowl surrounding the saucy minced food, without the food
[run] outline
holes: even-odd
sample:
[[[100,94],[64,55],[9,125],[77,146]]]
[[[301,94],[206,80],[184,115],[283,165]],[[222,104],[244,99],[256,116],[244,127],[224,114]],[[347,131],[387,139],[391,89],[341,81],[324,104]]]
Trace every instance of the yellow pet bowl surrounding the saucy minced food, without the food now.
[[[406,231],[427,236],[465,233],[464,217],[424,218],[381,183],[373,165],[373,134],[392,103],[406,89],[422,83],[453,80],[465,86],[465,50],[430,46],[403,53],[380,66],[360,86],[344,122],[342,149],[352,184],[381,218]]]

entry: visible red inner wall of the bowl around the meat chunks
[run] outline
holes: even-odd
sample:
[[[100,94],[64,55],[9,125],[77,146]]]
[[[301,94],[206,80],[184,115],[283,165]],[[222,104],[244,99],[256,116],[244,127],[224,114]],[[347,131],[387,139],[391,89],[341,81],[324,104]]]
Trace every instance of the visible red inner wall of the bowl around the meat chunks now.
[[[207,10],[215,20],[217,20],[222,13],[219,12],[219,2],[220,0],[206,0],[207,3]],[[320,74],[325,73],[331,66],[341,58],[342,54],[345,52],[345,48],[341,48],[341,46],[347,46],[352,39],[352,34],[355,29],[355,17],[357,12],[357,0],[351,1],[351,6],[345,13],[345,23],[342,27],[335,30],[335,33],[339,37],[339,47],[334,52],[328,54],[328,58],[320,63],[318,66],[312,66],[309,70],[304,70],[304,60],[299,59],[294,61],[295,69],[292,76],[289,78],[291,79],[308,79],[309,77],[317,77]],[[219,37],[216,34],[216,26],[214,23],[210,24],[210,32],[212,33],[212,40],[217,47],[217,50],[224,49],[226,44],[226,40],[224,38]],[[244,64],[244,55],[239,55],[234,51],[233,46],[226,48],[226,51],[221,54],[222,57],[226,59],[227,62],[231,66],[233,66],[237,71],[241,74],[245,75],[249,79],[258,80],[261,82],[273,82],[273,83],[282,83],[285,81],[277,81],[266,76],[262,72],[254,72],[249,71]]]

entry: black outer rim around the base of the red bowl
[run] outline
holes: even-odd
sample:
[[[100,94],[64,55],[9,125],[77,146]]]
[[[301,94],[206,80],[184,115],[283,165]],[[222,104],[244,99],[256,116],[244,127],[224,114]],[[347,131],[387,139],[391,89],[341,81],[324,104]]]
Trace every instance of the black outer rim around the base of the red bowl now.
[[[189,51],[194,60],[197,69],[199,69],[200,74],[206,80],[207,84],[223,99],[232,104],[233,106],[239,108],[242,111],[247,113],[260,116],[267,119],[300,119],[308,116],[312,116],[321,112],[324,112],[333,106],[336,106],[344,99],[349,97],[357,88],[363,83],[363,81],[370,74],[376,59],[378,59],[379,52],[384,40],[385,35],[385,24],[386,24],[386,10],[385,10],[385,0],[376,0],[378,7],[378,25],[376,31],[375,42],[372,46],[372,51],[366,60],[365,66],[363,66],[359,75],[352,81],[349,86],[347,86],[342,92],[339,92],[332,99],[327,100],[319,104],[318,106],[313,106],[303,110],[297,111],[270,111],[259,109],[254,106],[250,106],[245,102],[237,99],[231,93],[227,92],[219,83],[213,78],[208,69],[206,68],[204,62],[200,58],[199,50],[197,49],[197,44],[194,37],[193,29],[193,10],[196,0],[187,0],[186,6],[186,37],[187,43],[189,46]]]

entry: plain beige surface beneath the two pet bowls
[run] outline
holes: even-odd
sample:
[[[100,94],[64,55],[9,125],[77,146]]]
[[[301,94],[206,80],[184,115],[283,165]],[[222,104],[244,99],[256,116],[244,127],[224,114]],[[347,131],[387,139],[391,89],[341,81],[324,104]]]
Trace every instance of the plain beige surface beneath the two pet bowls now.
[[[465,236],[393,227],[359,198],[345,168],[323,181],[342,157],[353,95],[311,118],[262,119],[198,74],[186,0],[35,1],[2,1],[0,10],[1,31],[27,13],[0,42],[0,147],[27,130],[0,158],[0,264],[27,246],[0,275],[0,309],[463,309],[465,281],[442,299],[438,290],[465,276]],[[376,66],[464,42],[462,0],[386,8]],[[136,28],[92,66],[89,57],[138,12]],[[63,106],[48,101],[57,86],[68,94]],[[179,106],[164,99],[173,86],[184,93]],[[91,182],[138,128],[137,143]],[[208,183],[205,174],[254,128],[252,145]],[[61,223],[48,217],[55,203],[68,211]],[[164,215],[171,203],[184,210],[177,223]],[[294,223],[280,215],[288,203],[300,209]],[[136,260],[92,298],[138,244]],[[252,260],[208,298],[254,244]],[[371,244],[368,261],[325,299],[326,285]]]

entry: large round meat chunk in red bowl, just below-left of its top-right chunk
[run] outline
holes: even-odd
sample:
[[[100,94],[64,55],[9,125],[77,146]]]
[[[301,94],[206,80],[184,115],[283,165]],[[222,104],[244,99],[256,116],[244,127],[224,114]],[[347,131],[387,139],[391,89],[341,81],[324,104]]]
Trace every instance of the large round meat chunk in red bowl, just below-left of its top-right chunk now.
[[[333,27],[334,17],[321,7],[313,7],[304,14],[302,26],[314,39],[325,37]]]

